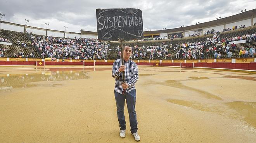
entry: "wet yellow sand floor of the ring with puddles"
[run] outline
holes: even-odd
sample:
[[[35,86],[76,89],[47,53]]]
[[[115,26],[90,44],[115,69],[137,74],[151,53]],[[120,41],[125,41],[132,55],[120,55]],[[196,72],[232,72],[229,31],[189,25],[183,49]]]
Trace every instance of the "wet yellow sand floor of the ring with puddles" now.
[[[25,68],[0,67],[0,142],[136,142],[126,107],[119,137],[110,66]],[[170,67],[139,74],[140,142],[256,140],[256,74]]]

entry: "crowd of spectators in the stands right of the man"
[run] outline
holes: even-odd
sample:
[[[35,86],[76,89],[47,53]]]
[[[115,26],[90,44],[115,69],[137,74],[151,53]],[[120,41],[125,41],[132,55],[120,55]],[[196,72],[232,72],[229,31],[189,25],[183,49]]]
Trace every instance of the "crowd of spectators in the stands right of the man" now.
[[[256,42],[256,34],[246,34],[243,36],[238,35],[235,37],[226,37],[223,39],[220,39],[219,31],[214,32],[214,30],[211,30],[210,34],[213,34],[213,37],[207,38],[206,41],[201,42],[188,42],[176,45],[166,45],[163,42],[159,46],[157,45],[148,47],[138,47],[137,45],[134,45],[132,47],[133,52],[131,59],[149,58],[150,60],[153,60],[156,57],[160,57],[161,59],[204,59],[210,56],[214,57],[215,59],[220,59],[223,57],[232,58],[232,54],[236,51],[235,49],[237,48],[236,44],[231,43],[232,41],[246,40],[246,42]],[[174,53],[169,52],[169,49],[173,50]],[[238,49],[240,50],[239,57],[254,57],[254,47],[239,46]],[[119,46],[116,47],[116,50],[119,51],[118,56],[120,56],[121,51]]]

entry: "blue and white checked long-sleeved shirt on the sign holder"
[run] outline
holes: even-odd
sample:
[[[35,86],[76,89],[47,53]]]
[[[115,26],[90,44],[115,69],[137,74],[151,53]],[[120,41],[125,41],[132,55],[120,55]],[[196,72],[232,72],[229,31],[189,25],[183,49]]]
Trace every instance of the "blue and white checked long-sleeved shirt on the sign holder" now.
[[[119,72],[118,69],[122,65],[121,59],[117,59],[112,67],[112,77],[116,80],[115,82],[115,91],[117,93],[123,94],[123,87],[122,87],[122,78],[123,73]],[[125,81],[128,84],[128,88],[125,90],[126,93],[130,93],[135,89],[135,83],[138,81],[138,66],[136,62],[133,62],[129,59],[129,61],[125,62]]]

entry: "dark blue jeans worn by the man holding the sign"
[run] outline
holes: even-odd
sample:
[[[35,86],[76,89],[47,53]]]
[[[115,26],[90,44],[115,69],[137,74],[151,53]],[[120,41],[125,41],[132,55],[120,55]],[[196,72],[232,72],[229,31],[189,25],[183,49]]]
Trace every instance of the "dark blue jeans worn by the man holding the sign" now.
[[[136,103],[136,89],[131,91],[130,93],[120,94],[114,91],[115,99],[116,99],[116,107],[117,107],[117,115],[120,130],[126,130],[126,122],[125,122],[125,99],[129,113],[131,133],[136,133],[138,128],[137,122],[137,114],[135,111],[135,103]]]

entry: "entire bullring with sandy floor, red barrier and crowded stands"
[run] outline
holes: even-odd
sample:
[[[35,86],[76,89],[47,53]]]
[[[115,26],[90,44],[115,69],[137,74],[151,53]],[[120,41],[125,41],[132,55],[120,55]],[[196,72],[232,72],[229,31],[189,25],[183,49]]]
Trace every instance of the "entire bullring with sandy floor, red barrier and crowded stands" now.
[[[249,20],[256,17],[255,9],[239,15],[247,16]],[[227,23],[223,27],[236,23],[232,19],[239,15],[224,18]],[[239,54],[240,49],[256,47],[256,26],[253,22],[245,28],[217,34],[224,39],[223,42],[226,42],[226,37],[246,36],[246,39],[241,36],[235,41],[237,46],[234,50],[229,45],[233,52],[230,58],[225,50],[217,49],[222,55],[218,58],[207,51],[209,47],[218,47],[214,40],[213,44],[208,44],[209,39],[214,38],[214,32],[177,39],[159,37],[160,40],[153,37],[161,32],[155,31],[151,35],[145,32],[152,39],[147,37],[144,41],[125,42],[131,44],[136,52],[146,47],[165,53],[168,49],[168,54],[175,55],[179,51],[176,45],[183,46],[180,47],[182,53],[184,49],[199,50],[195,50],[195,59],[182,57],[182,53],[177,58],[168,54],[159,56],[152,50],[144,51],[145,56],[143,52],[141,57],[133,53],[132,60],[137,63],[139,73],[136,112],[140,142],[256,141],[256,58]],[[21,27],[24,32],[10,30],[6,25]],[[202,29],[211,29],[209,26],[206,23],[201,25]],[[0,43],[4,51],[4,56],[0,57],[0,142],[135,142],[129,134],[126,107],[127,134],[125,139],[119,137],[113,91],[115,80],[111,75],[112,64],[120,57],[119,42],[85,38],[83,36],[88,32],[83,30],[80,34],[62,32],[64,38],[61,38],[53,34],[59,32],[54,30],[48,31],[48,34],[53,34],[49,36],[47,29],[10,22],[1,21],[1,27],[6,29],[0,30],[0,38],[9,42]],[[187,27],[190,30],[194,28],[193,25]],[[31,29],[46,30],[43,31],[45,35],[32,34]],[[188,31],[184,27],[184,35]],[[95,32],[90,33],[95,36]],[[81,36],[67,37],[72,34]],[[66,56],[62,53],[61,57],[50,55],[55,48],[62,52],[66,47],[72,49],[71,41],[77,44],[80,52],[84,50],[83,54],[70,56],[70,52],[66,52]],[[200,44],[195,44],[199,41]],[[27,47],[21,43],[27,43]],[[201,45],[204,48],[200,49]],[[95,54],[86,57],[88,49],[94,49]],[[154,59],[150,57],[152,55]]]

